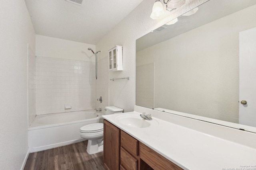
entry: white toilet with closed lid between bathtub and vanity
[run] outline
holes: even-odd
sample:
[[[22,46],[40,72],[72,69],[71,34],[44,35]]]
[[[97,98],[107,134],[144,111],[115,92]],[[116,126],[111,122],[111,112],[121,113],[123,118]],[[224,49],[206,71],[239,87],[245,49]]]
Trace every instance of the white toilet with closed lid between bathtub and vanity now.
[[[105,107],[106,115],[123,113],[123,109],[115,106]],[[103,151],[103,123],[92,123],[80,128],[80,136],[88,139],[88,154],[95,154]]]

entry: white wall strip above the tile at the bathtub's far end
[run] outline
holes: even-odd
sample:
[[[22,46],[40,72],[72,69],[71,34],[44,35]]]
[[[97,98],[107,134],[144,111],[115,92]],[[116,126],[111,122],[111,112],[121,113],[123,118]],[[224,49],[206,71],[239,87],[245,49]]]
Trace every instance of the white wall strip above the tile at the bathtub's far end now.
[[[95,45],[36,35],[36,56],[95,62]]]

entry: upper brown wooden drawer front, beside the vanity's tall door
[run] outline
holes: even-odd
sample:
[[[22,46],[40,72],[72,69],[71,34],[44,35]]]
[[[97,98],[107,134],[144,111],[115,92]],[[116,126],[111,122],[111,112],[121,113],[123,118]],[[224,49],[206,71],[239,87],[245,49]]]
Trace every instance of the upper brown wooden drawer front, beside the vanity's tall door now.
[[[130,154],[138,156],[138,141],[124,131],[121,131],[121,147],[130,152]]]

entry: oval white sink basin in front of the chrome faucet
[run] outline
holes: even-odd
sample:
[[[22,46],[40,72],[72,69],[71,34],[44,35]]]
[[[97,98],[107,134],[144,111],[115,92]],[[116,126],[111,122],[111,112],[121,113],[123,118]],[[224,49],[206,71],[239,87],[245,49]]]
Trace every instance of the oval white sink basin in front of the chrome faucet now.
[[[123,125],[137,128],[150,127],[152,124],[155,124],[157,122],[154,119],[143,119],[140,117],[140,115],[121,115],[116,117],[116,121]]]

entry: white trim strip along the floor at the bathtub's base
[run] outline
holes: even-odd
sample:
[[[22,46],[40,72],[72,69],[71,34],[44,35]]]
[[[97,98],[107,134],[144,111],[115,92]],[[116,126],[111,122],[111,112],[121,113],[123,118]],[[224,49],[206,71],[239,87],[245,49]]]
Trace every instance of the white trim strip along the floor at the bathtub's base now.
[[[55,144],[52,144],[52,145],[46,145],[46,146],[42,146],[42,147],[29,148],[29,151],[30,151],[30,153],[33,153],[33,152],[52,149],[52,148],[56,148],[56,147],[62,147],[62,146],[65,146],[65,145],[70,145],[70,144],[78,143],[78,142],[82,142],[82,141],[86,141],[86,139],[81,138],[81,139],[75,139],[75,140],[72,140],[72,141],[66,141],[66,142],[62,142],[62,143],[55,143]]]

